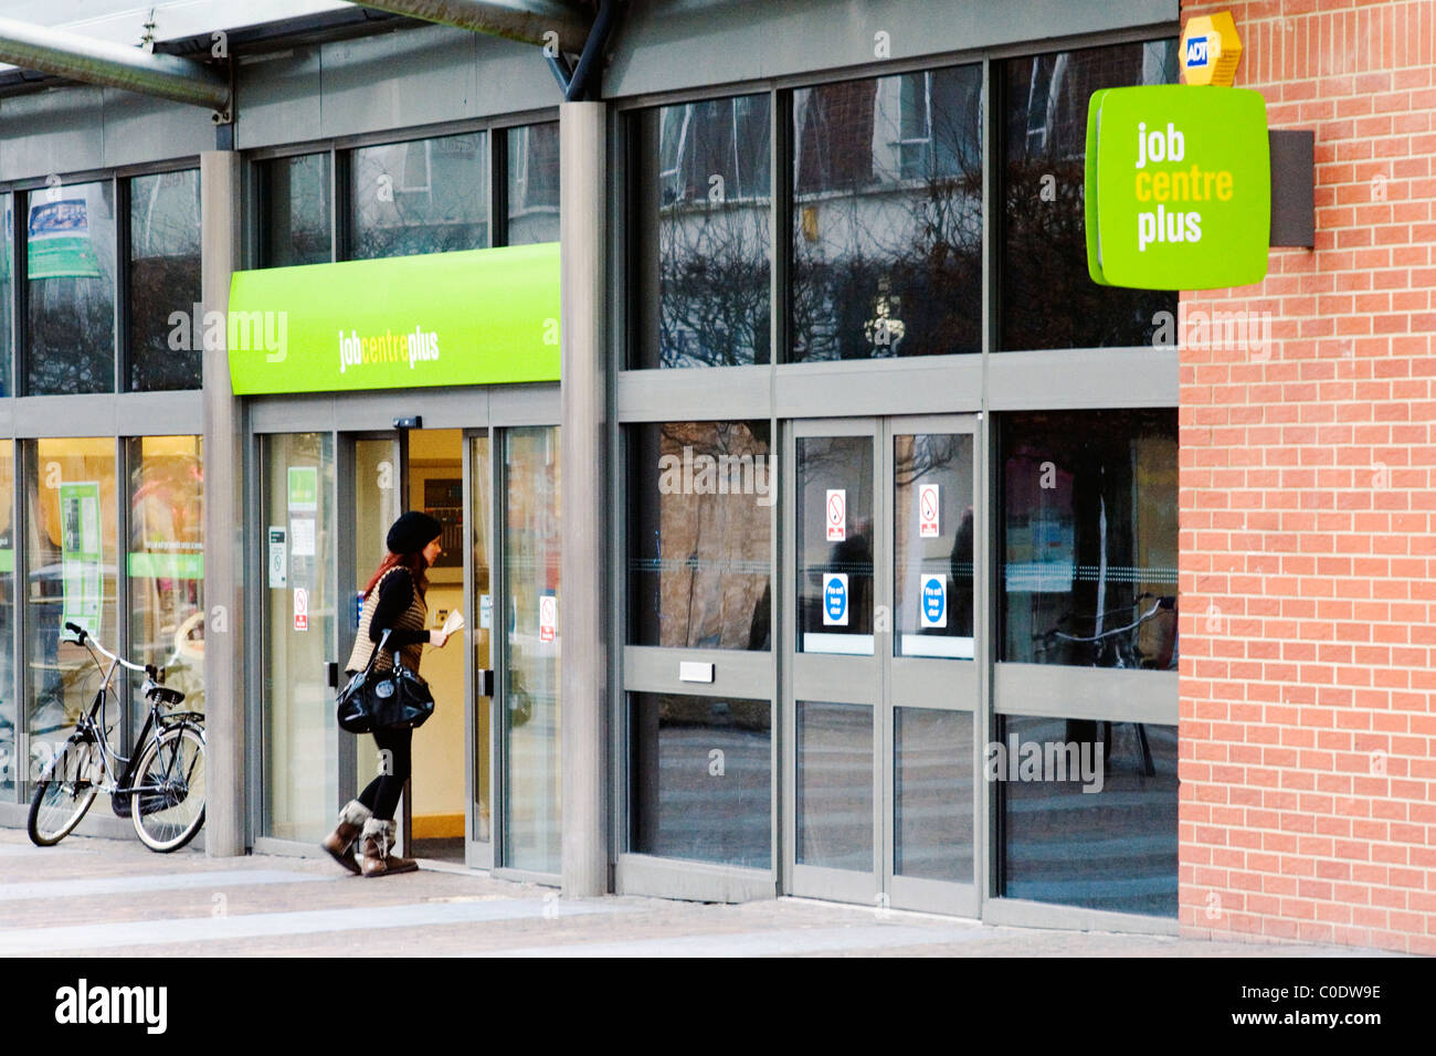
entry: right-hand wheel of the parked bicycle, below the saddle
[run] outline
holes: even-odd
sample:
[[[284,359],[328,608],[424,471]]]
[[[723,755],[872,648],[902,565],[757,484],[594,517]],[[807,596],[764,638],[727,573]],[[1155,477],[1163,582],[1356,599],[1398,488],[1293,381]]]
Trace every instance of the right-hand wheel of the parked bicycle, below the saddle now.
[[[204,826],[204,731],[175,726],[145,744],[135,766],[129,816],[151,851],[178,851]]]

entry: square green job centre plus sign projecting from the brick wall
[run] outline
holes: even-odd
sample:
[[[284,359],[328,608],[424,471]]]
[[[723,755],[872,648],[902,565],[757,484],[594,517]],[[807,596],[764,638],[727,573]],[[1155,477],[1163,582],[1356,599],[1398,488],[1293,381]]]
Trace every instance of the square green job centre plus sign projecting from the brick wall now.
[[[1241,88],[1094,92],[1087,272],[1104,286],[1209,290],[1267,277],[1267,102]]]

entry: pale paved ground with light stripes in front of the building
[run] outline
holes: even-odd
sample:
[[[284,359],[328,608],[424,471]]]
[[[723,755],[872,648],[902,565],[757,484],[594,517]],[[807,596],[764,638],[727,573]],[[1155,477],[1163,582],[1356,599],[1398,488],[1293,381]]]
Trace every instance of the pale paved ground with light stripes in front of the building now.
[[[780,898],[560,898],[467,871],[360,879],[327,858],[0,829],[0,957],[1348,957],[1310,944],[988,927]]]

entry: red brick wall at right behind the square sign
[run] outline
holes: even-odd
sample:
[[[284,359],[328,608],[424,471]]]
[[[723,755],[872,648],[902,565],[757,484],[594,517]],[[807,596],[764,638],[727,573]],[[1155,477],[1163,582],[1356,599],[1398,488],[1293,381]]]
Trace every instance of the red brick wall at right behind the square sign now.
[[[1436,954],[1436,0],[1231,10],[1317,135],[1268,348],[1182,351],[1180,921]]]

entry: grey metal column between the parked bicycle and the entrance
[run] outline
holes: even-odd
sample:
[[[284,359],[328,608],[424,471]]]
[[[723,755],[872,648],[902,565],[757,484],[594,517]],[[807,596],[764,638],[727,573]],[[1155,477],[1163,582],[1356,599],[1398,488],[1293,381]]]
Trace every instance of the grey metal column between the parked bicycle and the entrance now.
[[[204,312],[228,313],[240,264],[240,157],[200,155]],[[202,322],[202,320],[201,320]],[[228,328],[225,328],[228,335]],[[244,444],[230,389],[227,341],[204,349],[204,700],[208,764],[205,853],[243,855],[244,832]]]

